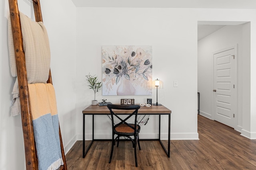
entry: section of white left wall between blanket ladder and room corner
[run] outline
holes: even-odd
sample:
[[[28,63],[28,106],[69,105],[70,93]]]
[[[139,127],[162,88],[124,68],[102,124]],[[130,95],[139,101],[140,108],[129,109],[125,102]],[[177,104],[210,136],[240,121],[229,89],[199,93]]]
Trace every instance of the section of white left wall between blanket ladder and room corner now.
[[[71,0],[44,0],[41,9],[50,40],[52,82],[67,152],[76,142],[76,8]]]

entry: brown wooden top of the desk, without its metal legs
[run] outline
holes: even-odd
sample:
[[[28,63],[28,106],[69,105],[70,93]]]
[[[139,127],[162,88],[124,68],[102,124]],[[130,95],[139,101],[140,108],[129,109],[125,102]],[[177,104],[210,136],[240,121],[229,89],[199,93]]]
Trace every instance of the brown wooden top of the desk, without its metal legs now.
[[[115,113],[131,113],[131,110],[115,110]],[[88,106],[86,109],[82,111],[83,114],[93,115],[93,114],[99,114],[99,115],[107,115],[110,114],[110,111],[107,106]],[[140,106],[140,109],[138,110],[138,114],[144,115],[144,114],[152,114],[152,115],[159,115],[159,114],[170,114],[172,113],[171,110],[164,106]]]

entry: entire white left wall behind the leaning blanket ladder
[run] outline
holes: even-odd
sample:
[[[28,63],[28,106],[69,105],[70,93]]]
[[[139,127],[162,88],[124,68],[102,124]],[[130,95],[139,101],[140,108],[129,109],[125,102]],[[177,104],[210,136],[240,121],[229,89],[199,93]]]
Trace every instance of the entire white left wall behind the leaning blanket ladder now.
[[[30,16],[30,1],[18,0]],[[76,8],[71,0],[41,1],[51,47],[51,71],[65,151],[76,141]],[[56,12],[58,11],[58,12]],[[0,2],[0,169],[24,169],[24,143],[20,115],[10,116],[12,87],[7,46],[8,0]]]

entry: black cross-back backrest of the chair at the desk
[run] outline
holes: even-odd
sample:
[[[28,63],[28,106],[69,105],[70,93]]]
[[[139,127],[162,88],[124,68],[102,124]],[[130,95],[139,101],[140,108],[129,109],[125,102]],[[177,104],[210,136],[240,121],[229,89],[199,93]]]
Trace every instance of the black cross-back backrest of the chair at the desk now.
[[[111,120],[112,120],[112,129],[114,129],[114,127],[124,123],[126,125],[128,125],[130,128],[134,129],[134,133],[136,133],[136,126],[137,126],[137,116],[138,116],[138,110],[140,109],[140,105],[115,105],[115,104],[108,104],[108,109],[110,110],[111,113]],[[134,110],[131,113],[127,113],[127,117],[125,117],[124,119],[120,118],[112,109],[118,109],[118,110]],[[134,119],[134,127],[131,126],[129,123],[127,123],[126,121],[132,117],[133,115],[135,115],[135,119]],[[120,122],[117,123],[116,125],[114,124],[114,116],[117,117]]]

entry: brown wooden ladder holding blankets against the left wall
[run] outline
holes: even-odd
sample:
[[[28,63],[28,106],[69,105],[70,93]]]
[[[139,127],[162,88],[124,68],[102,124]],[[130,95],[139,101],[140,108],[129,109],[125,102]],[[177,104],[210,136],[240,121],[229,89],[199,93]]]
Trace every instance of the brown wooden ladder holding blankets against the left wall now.
[[[42,12],[40,7],[40,0],[32,0],[34,6],[34,15],[37,22],[42,21]],[[38,160],[36,156],[36,146],[34,141],[34,131],[31,115],[31,107],[28,93],[28,81],[26,71],[25,54],[23,50],[22,32],[20,25],[20,14],[18,10],[17,0],[9,0],[10,18],[12,23],[12,34],[14,40],[14,51],[16,58],[17,77],[20,93],[20,107],[22,118],[22,129],[24,137],[25,159],[27,170],[38,170]],[[49,78],[47,83],[52,84],[51,71],[49,71]],[[59,170],[67,170],[66,158],[62,144],[62,137],[59,127],[60,148],[62,153],[63,166]]]

